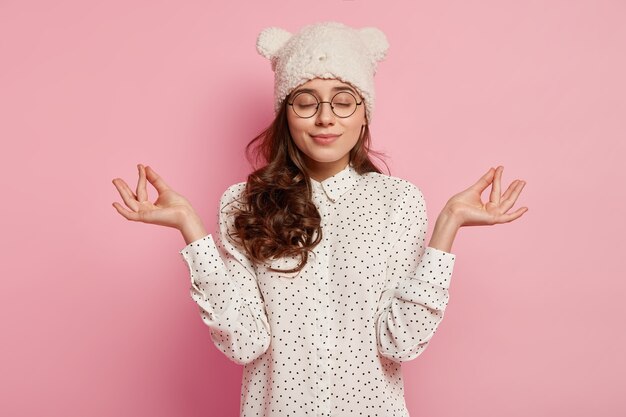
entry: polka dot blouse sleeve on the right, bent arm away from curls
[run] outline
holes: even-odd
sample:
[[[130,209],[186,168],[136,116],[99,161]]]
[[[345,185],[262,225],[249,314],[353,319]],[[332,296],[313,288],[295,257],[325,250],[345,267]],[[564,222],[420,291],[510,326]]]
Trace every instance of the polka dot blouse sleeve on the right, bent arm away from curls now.
[[[378,350],[396,362],[415,359],[428,346],[444,316],[456,256],[425,247],[428,229],[424,197],[407,193],[397,215],[399,238],[387,261],[387,283],[376,316]]]

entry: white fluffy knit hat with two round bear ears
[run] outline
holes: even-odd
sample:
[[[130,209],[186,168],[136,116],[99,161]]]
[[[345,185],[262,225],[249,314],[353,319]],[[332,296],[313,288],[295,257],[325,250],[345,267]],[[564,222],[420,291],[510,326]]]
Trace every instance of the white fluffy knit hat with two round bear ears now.
[[[272,64],[275,112],[300,84],[313,78],[337,78],[352,84],[365,99],[367,120],[371,122],[376,65],[389,49],[380,29],[353,29],[339,22],[321,22],[291,34],[268,27],[259,34],[256,47]]]

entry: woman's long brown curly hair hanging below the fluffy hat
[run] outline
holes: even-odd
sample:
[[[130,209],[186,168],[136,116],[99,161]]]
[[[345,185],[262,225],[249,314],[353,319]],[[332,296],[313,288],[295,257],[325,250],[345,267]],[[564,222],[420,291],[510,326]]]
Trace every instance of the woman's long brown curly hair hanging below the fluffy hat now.
[[[320,214],[312,200],[309,175],[301,151],[294,144],[287,122],[284,100],[273,122],[246,146],[248,161],[254,166],[265,163],[246,182],[242,208],[235,211],[235,232],[249,258],[263,263],[271,257],[299,256],[297,267],[281,272],[298,272],[306,264],[309,252],[321,241]],[[359,140],[350,150],[350,162],[359,174],[381,171],[369,159],[376,154],[387,167],[381,152],[370,150],[370,132],[366,124]],[[268,268],[278,271],[274,268]]]

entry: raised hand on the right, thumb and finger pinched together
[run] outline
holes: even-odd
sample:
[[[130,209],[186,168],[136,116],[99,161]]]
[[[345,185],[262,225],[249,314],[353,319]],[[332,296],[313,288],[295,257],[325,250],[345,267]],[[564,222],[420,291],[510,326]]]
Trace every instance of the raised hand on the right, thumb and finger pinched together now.
[[[507,212],[515,204],[526,182],[513,181],[501,195],[500,181],[503,170],[504,167],[501,165],[495,170],[490,168],[474,185],[452,196],[443,211],[450,213],[459,226],[493,225],[512,222],[519,218],[528,211],[528,207],[521,207],[513,213]],[[483,203],[480,195],[489,184],[492,184],[489,201]]]

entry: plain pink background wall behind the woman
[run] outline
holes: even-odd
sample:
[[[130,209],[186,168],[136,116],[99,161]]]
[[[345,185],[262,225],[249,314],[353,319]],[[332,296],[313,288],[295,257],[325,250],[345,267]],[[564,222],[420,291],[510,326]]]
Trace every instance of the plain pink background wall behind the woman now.
[[[235,416],[241,368],[189,297],[175,229],[111,180],[153,166],[211,231],[272,117],[267,26],[377,26],[375,149],[434,220],[490,166],[519,220],[466,227],[411,415],[626,415],[626,3],[2,1],[4,416]],[[156,198],[153,188],[150,198]],[[484,196],[485,198],[488,195]],[[430,236],[429,233],[429,236]]]

